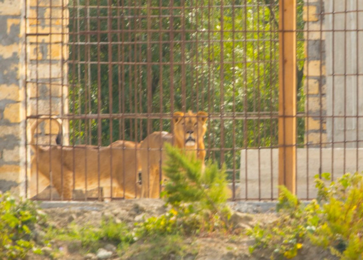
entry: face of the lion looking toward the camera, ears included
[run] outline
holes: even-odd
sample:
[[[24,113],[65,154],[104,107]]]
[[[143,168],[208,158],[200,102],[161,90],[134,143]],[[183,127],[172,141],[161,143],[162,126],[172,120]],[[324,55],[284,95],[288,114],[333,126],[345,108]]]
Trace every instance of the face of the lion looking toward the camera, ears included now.
[[[174,136],[180,148],[204,148],[203,137],[206,131],[205,122],[208,114],[205,112],[188,113],[175,112],[173,115]]]

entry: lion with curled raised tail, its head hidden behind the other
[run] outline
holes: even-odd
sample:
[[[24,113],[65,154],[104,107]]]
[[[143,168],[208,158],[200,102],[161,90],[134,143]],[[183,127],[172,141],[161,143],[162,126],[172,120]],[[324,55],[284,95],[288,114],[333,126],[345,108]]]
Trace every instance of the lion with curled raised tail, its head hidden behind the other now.
[[[139,143],[117,140],[103,147],[35,145],[34,132],[39,123],[46,119],[55,120],[58,124],[57,143],[61,140],[62,122],[55,116],[42,116],[31,125],[30,146],[34,151],[31,179],[34,180],[34,175],[40,173],[55,187],[63,200],[71,200],[74,189],[89,190],[98,187],[103,188],[105,198],[140,196],[137,175],[141,167],[136,152]],[[31,187],[31,194],[36,191],[37,187]]]

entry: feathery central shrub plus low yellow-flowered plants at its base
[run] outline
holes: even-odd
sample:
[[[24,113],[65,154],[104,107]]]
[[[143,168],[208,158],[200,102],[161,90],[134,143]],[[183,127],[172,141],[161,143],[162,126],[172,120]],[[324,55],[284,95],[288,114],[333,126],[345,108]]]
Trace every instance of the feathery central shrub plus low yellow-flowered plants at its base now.
[[[163,171],[168,180],[162,196],[172,208],[137,224],[137,239],[226,230],[230,211],[224,171],[210,163],[202,170],[202,162],[192,155],[168,144],[165,149]]]

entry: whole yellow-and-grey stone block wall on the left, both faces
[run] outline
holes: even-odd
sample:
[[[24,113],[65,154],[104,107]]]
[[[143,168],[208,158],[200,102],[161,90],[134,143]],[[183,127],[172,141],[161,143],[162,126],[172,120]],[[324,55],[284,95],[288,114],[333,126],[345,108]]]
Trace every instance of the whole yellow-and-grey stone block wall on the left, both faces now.
[[[62,4],[64,6],[62,6]],[[0,191],[25,195],[31,115],[67,113],[66,0],[0,1]],[[40,127],[40,143],[58,129]],[[65,126],[67,129],[67,126]],[[43,136],[43,137],[41,137]],[[43,142],[44,141],[44,142]],[[65,140],[66,141],[66,140]],[[28,160],[28,163],[27,163]]]

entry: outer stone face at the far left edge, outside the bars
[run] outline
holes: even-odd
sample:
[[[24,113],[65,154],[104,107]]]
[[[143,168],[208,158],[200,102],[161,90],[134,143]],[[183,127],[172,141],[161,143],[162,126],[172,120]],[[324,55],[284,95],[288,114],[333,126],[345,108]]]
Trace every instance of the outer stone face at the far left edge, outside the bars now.
[[[23,1],[0,1],[0,190],[25,177],[25,27]]]

